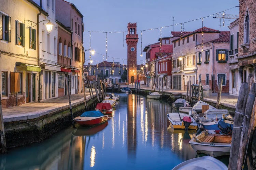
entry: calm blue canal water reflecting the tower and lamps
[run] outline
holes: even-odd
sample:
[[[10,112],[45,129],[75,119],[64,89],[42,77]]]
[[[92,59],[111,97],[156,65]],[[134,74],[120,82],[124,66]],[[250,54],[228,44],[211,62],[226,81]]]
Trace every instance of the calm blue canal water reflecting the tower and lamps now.
[[[115,108],[101,125],[76,125],[9,150],[0,169],[171,169],[197,156],[188,143],[197,132],[169,126],[170,103],[120,94]]]

